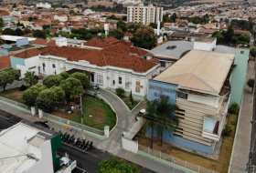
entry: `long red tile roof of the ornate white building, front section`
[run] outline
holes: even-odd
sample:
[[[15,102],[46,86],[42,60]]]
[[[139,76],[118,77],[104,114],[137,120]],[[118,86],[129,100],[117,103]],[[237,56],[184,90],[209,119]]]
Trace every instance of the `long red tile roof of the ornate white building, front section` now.
[[[117,45],[121,46],[121,45]],[[146,72],[155,63],[145,60],[140,56],[129,56],[128,50],[123,53],[115,53],[109,51],[109,47],[105,50],[83,49],[78,47],[61,46],[61,47],[44,47],[40,51],[45,52],[43,55],[66,57],[69,61],[85,60],[96,66],[117,66],[133,69],[136,72]]]

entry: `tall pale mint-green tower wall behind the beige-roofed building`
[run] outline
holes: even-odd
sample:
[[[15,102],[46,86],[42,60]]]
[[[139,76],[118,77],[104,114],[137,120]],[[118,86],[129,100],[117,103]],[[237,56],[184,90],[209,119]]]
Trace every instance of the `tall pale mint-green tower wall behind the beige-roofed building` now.
[[[243,51],[243,54],[241,54]],[[230,103],[234,102],[240,105],[244,80],[246,78],[250,49],[236,48],[236,57],[234,64],[237,65],[231,75],[231,95]]]

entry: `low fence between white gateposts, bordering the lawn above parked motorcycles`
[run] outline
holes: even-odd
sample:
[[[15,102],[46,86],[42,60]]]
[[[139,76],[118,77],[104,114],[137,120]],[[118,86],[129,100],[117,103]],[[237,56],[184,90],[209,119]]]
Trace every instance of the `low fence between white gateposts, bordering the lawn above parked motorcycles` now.
[[[64,119],[62,117],[56,117],[56,116],[53,116],[51,114],[47,114],[45,112],[44,112],[43,118],[48,119],[49,121],[54,121],[54,122],[56,122],[58,124],[61,124],[61,125],[64,125],[64,126],[69,124],[70,127],[77,127],[81,131],[81,124],[73,122],[73,121],[69,121],[69,119]],[[82,127],[83,127],[83,130],[85,131],[85,133],[90,132],[92,134],[96,134],[96,135],[99,135],[99,136],[104,136],[104,130],[99,130],[99,129],[96,129],[96,128],[93,128],[93,127],[88,127],[86,125],[83,125]]]

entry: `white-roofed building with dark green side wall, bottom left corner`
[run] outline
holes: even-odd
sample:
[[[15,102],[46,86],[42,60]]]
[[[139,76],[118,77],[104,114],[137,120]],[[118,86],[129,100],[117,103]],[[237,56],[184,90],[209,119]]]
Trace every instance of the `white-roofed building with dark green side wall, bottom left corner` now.
[[[0,172],[53,173],[60,168],[60,147],[59,133],[22,121],[0,132]]]

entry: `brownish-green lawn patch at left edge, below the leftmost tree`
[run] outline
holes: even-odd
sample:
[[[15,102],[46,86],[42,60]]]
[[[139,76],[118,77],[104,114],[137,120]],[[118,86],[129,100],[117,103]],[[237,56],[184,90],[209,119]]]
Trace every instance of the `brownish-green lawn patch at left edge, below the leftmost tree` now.
[[[22,99],[24,91],[20,91],[19,88],[6,90],[0,93],[0,97],[5,97],[16,102],[24,104],[24,100]]]

